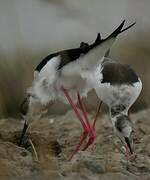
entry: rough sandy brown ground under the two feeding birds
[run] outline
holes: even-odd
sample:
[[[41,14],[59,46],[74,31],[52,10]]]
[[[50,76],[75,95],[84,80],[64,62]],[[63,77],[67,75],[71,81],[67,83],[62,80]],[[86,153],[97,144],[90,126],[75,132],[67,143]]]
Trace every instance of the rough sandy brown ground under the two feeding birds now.
[[[72,111],[65,115],[35,118],[28,130],[37,157],[26,144],[16,145],[23,122],[0,120],[0,180],[125,180],[150,179],[150,109],[131,114],[137,157],[126,161],[118,147],[109,116],[96,125],[95,148],[67,158],[78,143],[82,129]],[[94,113],[89,114],[92,120]]]

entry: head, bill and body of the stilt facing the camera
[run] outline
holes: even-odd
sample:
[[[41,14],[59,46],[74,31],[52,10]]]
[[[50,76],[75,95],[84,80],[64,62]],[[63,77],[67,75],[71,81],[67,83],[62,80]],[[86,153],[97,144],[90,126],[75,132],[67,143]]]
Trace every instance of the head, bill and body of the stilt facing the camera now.
[[[133,153],[131,132],[132,123],[128,111],[142,90],[142,82],[135,71],[126,64],[118,63],[110,57],[102,58],[91,83],[97,96],[110,111],[115,132]]]

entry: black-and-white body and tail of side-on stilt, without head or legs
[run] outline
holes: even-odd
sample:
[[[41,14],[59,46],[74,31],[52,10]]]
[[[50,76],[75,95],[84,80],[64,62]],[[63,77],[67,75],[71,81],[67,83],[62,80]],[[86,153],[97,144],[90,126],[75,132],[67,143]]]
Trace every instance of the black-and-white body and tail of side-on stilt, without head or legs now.
[[[29,93],[39,100],[41,104],[47,104],[49,101],[57,100],[68,103],[64,97],[61,87],[69,90],[70,96],[76,101],[76,91],[81,96],[86,96],[92,88],[87,84],[88,76],[95,71],[99,60],[106,51],[112,46],[118,34],[121,31],[123,21],[120,26],[106,39],[101,39],[100,34],[91,45],[82,45],[76,49],[68,49],[48,55],[35,68],[34,81]]]

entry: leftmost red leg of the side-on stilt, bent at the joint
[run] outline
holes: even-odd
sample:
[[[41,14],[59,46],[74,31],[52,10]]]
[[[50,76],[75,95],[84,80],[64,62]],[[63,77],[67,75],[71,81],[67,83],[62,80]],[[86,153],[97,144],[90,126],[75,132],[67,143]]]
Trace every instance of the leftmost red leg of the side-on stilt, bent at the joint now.
[[[69,96],[68,91],[64,87],[62,87],[62,90],[63,90],[64,95],[66,96],[69,104],[71,105],[72,109],[74,110],[77,118],[80,120],[82,127],[84,129],[84,132],[82,133],[81,138],[80,138],[80,142],[78,143],[78,145],[76,146],[74,152],[72,153],[72,155],[70,157],[70,159],[71,159],[73,157],[73,155],[79,151],[83,141],[86,139],[87,135],[89,134],[90,129],[89,129],[88,125],[84,122],[84,120],[83,120],[81,114],[79,113],[75,103],[72,101],[71,97]]]

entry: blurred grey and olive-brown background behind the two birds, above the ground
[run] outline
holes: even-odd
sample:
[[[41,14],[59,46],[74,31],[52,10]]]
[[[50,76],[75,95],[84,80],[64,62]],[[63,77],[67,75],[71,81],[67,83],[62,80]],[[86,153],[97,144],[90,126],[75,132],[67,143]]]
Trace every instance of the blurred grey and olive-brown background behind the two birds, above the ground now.
[[[136,25],[119,36],[111,55],[141,77],[142,94],[132,110],[145,109],[150,105],[149,0],[1,0],[0,117],[18,115],[34,67],[44,56],[77,47],[81,41],[92,42],[98,32],[105,37],[123,19]],[[89,110],[96,107],[94,93],[86,103]],[[50,112],[66,108],[59,104]]]

